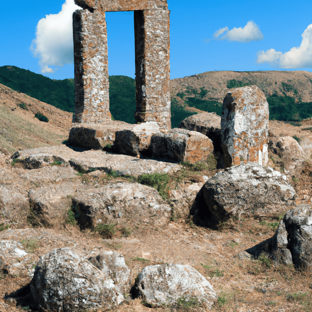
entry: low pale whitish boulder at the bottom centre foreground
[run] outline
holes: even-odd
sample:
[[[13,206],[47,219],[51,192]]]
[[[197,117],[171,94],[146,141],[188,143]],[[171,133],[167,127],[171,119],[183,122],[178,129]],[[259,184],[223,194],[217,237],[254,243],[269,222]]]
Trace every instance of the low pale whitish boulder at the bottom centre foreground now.
[[[170,263],[146,266],[139,273],[134,287],[135,297],[153,305],[174,304],[178,300],[196,298],[211,309],[213,302],[217,300],[210,283],[188,265]]]

